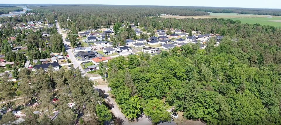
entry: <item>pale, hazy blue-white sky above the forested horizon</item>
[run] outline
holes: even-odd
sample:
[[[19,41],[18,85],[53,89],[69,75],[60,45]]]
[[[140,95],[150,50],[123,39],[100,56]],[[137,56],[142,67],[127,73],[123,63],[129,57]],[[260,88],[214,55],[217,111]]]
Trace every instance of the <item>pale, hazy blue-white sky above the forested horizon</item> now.
[[[244,8],[278,8],[281,0],[0,0],[0,4],[110,4],[159,6],[213,6]]]

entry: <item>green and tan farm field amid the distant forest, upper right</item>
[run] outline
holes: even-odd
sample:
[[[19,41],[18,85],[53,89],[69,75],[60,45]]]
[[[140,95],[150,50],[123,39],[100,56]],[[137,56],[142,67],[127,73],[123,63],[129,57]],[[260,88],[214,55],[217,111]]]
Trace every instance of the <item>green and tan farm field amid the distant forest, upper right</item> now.
[[[252,14],[238,14],[238,13],[210,13],[207,16],[162,16],[165,18],[224,18],[231,20],[240,20],[241,23],[261,25],[271,25],[274,27],[281,27],[281,16],[270,16],[270,15],[252,15]]]

